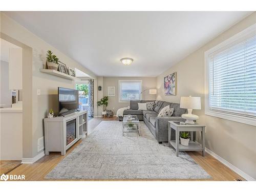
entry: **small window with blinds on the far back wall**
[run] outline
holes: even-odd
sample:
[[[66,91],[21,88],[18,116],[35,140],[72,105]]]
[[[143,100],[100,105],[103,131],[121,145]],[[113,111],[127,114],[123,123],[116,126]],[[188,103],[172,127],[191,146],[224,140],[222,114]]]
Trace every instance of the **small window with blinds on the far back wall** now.
[[[141,99],[141,80],[119,80],[119,102]]]

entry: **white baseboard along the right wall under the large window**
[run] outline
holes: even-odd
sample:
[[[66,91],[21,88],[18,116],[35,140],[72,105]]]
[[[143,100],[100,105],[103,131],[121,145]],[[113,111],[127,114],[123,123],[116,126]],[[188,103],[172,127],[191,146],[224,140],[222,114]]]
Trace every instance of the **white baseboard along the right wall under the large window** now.
[[[198,143],[198,142],[197,142]],[[200,144],[200,143],[199,143]],[[201,145],[201,144],[200,144]],[[217,154],[215,154],[214,152],[210,151],[208,148],[205,147],[205,152],[207,152],[209,155],[211,155],[212,157],[214,157],[215,159],[217,159],[218,161],[220,161],[222,164],[226,165],[228,168],[230,168],[233,172],[237,173],[238,175],[240,175],[241,177],[243,177],[245,180],[247,181],[256,181],[254,178],[252,178],[251,176],[247,175],[246,173],[242,172],[242,170],[240,170],[238,167],[232,165],[231,163],[229,163],[228,161],[226,161],[225,159],[223,159],[222,157],[218,156]]]

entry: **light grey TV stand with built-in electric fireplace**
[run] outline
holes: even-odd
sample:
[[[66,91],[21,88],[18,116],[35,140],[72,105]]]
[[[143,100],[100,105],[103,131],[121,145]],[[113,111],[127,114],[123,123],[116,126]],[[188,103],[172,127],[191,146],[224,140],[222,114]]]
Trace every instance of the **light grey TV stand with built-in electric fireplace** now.
[[[61,152],[61,155],[65,155],[69,147],[87,135],[87,111],[74,112],[65,117],[45,118],[44,122],[46,155],[49,155],[49,152]],[[68,134],[72,130],[70,136],[67,136],[67,122]]]

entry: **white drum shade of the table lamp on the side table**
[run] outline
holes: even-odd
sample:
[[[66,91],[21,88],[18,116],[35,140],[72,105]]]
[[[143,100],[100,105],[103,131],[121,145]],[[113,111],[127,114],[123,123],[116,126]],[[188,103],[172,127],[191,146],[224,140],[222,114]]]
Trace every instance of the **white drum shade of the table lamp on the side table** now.
[[[201,97],[181,97],[180,108],[201,110]]]

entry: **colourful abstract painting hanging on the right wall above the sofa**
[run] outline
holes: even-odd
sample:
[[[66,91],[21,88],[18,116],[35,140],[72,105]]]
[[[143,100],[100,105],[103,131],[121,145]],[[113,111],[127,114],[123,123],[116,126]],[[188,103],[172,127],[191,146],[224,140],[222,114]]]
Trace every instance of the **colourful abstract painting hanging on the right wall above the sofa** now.
[[[176,72],[163,78],[163,89],[165,95],[176,95]]]

